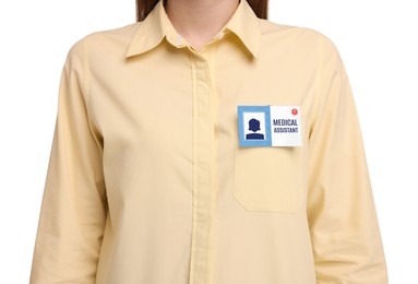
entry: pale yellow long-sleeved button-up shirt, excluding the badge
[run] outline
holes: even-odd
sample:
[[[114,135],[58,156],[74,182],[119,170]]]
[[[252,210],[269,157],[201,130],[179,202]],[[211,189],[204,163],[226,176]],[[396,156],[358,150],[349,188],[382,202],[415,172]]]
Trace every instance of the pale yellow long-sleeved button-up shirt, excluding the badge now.
[[[237,106],[300,106],[240,147]],[[318,32],[246,0],[200,51],[163,1],[63,68],[32,284],[384,284],[349,82]]]

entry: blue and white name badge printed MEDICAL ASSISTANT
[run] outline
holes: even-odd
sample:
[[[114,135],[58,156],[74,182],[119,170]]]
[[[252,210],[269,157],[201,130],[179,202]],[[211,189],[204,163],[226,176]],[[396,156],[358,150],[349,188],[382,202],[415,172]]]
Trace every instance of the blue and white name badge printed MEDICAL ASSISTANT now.
[[[240,146],[301,146],[300,106],[238,106]]]

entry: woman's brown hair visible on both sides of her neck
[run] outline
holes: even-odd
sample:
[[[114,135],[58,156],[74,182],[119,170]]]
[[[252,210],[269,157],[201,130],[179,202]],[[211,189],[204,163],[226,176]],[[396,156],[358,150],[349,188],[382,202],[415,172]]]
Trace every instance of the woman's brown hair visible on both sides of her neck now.
[[[167,0],[162,0],[166,3]],[[136,21],[143,21],[157,4],[158,0],[136,0]],[[268,0],[247,0],[260,19],[267,19]]]

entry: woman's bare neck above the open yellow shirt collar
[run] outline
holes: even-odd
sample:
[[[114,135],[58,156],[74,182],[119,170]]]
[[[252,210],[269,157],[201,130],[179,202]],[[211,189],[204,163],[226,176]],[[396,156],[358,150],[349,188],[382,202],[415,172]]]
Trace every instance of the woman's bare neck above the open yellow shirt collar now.
[[[239,0],[167,0],[166,12],[176,31],[200,50],[225,26]]]

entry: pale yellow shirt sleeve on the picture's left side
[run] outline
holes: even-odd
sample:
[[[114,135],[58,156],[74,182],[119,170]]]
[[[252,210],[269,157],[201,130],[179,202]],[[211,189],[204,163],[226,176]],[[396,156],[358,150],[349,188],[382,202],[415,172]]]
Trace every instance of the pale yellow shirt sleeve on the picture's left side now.
[[[100,135],[87,113],[82,42],[67,58],[31,284],[94,284],[106,222]]]

